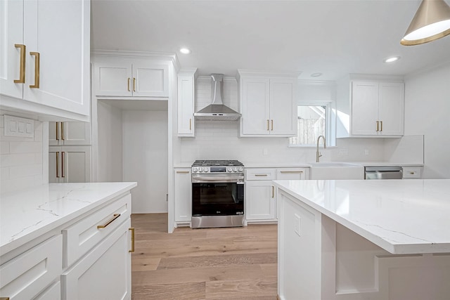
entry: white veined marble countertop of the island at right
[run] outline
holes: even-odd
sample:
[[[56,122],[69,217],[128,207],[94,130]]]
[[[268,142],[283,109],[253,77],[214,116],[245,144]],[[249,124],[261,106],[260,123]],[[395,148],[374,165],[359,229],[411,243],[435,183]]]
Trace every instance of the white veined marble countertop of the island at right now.
[[[450,179],[274,183],[392,254],[450,253]]]

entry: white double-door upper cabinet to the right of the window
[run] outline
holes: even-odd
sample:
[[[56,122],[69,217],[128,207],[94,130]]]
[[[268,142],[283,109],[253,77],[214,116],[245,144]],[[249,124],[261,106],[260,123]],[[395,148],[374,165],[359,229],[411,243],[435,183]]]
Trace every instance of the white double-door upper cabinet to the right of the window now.
[[[403,82],[352,80],[347,84],[341,86],[341,93],[338,88],[338,138],[404,134]]]

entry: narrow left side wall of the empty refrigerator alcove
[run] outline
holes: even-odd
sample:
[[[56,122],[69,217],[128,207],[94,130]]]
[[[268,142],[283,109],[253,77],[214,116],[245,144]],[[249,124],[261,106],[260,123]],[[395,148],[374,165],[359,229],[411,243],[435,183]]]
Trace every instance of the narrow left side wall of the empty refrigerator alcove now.
[[[98,182],[122,181],[122,110],[102,101],[98,115]]]

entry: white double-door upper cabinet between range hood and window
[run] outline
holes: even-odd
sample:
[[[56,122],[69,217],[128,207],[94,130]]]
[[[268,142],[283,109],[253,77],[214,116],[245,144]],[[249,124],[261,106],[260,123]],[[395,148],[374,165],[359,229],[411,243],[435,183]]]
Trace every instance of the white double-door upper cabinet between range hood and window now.
[[[297,74],[239,70],[240,136],[294,136],[297,133]]]

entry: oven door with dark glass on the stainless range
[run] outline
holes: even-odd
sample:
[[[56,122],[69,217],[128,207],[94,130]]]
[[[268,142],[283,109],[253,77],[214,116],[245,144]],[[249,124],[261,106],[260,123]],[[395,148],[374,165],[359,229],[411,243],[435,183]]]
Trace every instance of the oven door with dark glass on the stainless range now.
[[[192,183],[193,216],[244,214],[244,181],[230,178],[197,178]],[[206,178],[206,180],[205,180]]]

